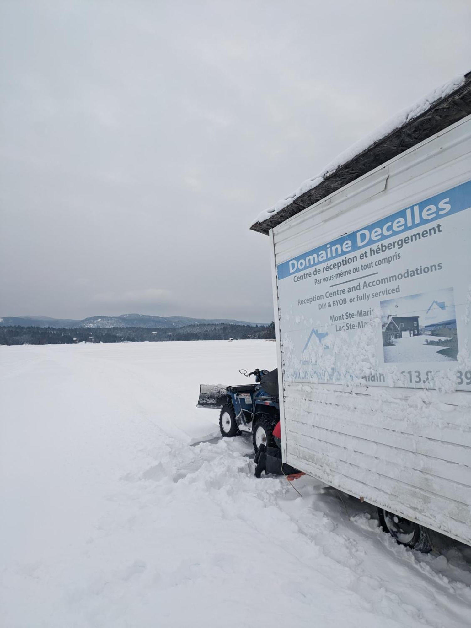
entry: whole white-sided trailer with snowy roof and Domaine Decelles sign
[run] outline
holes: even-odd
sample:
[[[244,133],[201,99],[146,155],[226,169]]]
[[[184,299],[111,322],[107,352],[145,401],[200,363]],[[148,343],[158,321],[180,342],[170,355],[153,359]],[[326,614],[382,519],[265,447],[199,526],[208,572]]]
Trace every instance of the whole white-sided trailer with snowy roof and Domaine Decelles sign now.
[[[404,543],[410,521],[471,544],[470,114],[468,74],[252,225],[272,243],[283,460]]]

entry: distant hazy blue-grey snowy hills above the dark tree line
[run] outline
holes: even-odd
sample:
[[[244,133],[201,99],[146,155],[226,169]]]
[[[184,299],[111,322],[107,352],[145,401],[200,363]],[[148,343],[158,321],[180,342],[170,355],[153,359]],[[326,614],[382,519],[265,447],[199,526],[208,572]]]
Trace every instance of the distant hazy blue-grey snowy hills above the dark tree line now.
[[[0,327],[7,325],[19,325],[21,327],[185,327],[186,325],[197,325],[198,323],[217,324],[229,323],[233,325],[268,325],[268,323],[250,323],[244,320],[232,320],[225,318],[190,318],[184,316],[148,316],[145,314],[121,314],[120,316],[92,316],[82,320],[72,320],[71,318],[49,318],[44,316],[24,316],[24,317],[3,317],[0,318]]]

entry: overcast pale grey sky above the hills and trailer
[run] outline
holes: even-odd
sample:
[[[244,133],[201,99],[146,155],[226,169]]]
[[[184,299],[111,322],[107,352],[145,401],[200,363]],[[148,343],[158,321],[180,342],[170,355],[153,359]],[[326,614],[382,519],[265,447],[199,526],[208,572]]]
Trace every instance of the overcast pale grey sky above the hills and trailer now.
[[[0,9],[0,315],[272,320],[258,212],[471,70],[469,0]]]

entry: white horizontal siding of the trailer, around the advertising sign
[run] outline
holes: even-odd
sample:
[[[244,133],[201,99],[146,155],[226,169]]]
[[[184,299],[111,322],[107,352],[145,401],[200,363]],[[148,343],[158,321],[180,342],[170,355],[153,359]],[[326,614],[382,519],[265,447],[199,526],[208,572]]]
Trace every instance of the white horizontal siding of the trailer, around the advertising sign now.
[[[433,393],[422,402],[414,389],[287,381],[281,345],[287,304],[279,300],[276,267],[470,178],[468,116],[271,230],[284,460],[468,544],[471,393]],[[418,401],[411,416],[413,396]]]

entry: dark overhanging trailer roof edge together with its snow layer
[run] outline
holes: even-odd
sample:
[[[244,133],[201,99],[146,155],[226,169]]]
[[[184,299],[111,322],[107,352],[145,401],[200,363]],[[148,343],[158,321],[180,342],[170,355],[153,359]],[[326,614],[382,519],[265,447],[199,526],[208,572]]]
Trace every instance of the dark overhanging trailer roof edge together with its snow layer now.
[[[303,181],[295,192],[261,212],[251,229],[268,234],[284,220],[470,114],[468,72],[437,87],[340,153],[318,175]]]

